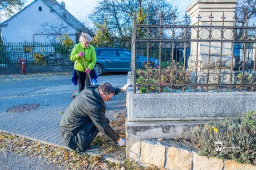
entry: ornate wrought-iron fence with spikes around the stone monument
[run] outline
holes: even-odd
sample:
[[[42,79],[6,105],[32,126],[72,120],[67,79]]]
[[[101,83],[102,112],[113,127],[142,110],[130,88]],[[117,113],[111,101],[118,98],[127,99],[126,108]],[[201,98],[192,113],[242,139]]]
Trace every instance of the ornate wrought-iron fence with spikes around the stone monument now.
[[[134,18],[134,93],[255,91],[256,27],[239,27],[235,17],[233,25],[225,25],[224,13],[218,25],[212,25],[212,15],[209,25],[199,24],[200,14],[197,18],[198,25],[136,25]],[[142,70],[136,68],[137,54],[147,56]],[[151,58],[159,65],[152,65]]]

